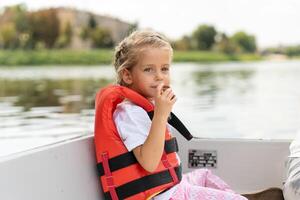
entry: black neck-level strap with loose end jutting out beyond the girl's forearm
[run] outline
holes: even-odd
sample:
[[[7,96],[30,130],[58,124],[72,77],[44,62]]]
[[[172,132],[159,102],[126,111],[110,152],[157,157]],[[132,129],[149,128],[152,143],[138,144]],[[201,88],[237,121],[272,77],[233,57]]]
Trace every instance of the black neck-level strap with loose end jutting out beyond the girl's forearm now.
[[[148,116],[152,120],[154,115],[154,111],[148,112]],[[184,124],[176,117],[174,113],[170,113],[170,117],[168,119],[168,123],[173,126],[185,139],[191,140],[193,139],[193,135],[189,132],[189,130],[184,126]]]

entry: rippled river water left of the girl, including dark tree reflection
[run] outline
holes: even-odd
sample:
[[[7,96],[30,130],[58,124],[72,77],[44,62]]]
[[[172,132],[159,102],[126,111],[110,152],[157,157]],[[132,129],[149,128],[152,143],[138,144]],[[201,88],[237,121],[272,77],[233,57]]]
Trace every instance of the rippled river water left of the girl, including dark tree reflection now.
[[[92,134],[95,93],[110,82],[0,78],[0,157]]]

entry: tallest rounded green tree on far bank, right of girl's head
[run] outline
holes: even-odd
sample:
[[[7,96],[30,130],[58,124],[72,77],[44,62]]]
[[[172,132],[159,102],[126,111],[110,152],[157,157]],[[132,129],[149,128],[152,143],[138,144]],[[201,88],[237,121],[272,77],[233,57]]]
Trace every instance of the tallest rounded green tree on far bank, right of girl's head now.
[[[201,25],[192,34],[192,38],[196,41],[197,49],[210,50],[215,43],[217,32],[213,26]]]

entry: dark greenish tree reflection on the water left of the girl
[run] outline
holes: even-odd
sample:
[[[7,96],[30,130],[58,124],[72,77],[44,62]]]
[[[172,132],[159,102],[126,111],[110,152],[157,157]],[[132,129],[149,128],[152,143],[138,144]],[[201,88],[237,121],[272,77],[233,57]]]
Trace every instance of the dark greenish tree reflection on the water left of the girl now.
[[[22,106],[24,111],[34,107],[62,106],[64,113],[79,113],[82,109],[94,108],[95,92],[109,82],[112,80],[0,79],[0,97],[10,97],[6,100]]]

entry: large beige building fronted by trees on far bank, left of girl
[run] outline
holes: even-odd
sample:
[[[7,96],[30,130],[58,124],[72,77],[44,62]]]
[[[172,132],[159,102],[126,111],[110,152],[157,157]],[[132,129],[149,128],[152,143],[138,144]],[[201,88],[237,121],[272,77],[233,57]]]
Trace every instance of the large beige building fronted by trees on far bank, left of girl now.
[[[26,6],[16,5],[0,13],[0,48],[109,48],[135,28],[114,17],[77,9],[27,11]]]

